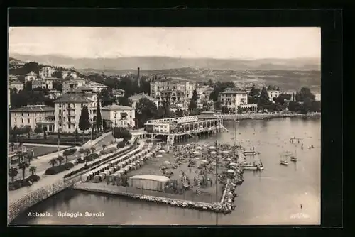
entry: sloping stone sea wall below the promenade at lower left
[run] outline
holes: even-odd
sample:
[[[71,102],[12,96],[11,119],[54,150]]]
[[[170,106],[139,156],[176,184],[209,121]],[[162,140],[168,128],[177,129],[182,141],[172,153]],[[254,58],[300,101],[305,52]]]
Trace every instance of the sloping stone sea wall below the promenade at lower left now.
[[[35,191],[23,196],[21,199],[18,199],[16,202],[9,204],[9,211],[8,211],[8,221],[9,223],[13,221],[19,214],[26,209],[30,208],[31,206],[38,204],[38,202],[42,202],[43,200],[47,199],[48,197],[57,194],[58,192],[63,191],[67,187],[71,187],[76,182],[80,181],[79,177],[74,177],[70,180],[60,180],[53,184],[50,184],[45,187],[41,187],[36,189]]]

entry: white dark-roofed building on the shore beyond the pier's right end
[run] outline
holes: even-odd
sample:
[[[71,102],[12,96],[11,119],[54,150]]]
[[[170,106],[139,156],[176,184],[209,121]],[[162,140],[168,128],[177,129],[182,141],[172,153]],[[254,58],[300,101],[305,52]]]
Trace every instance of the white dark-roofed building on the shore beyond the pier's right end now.
[[[237,109],[238,106],[248,104],[248,93],[227,88],[219,93],[219,99],[221,106],[226,106],[228,109]]]

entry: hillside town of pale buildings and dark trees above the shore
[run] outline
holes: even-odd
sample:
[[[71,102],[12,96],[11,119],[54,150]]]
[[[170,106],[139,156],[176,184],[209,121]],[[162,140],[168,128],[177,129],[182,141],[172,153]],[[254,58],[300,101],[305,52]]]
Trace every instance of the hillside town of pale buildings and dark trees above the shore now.
[[[237,82],[191,82],[178,77],[140,74],[83,75],[70,68],[9,61],[9,116],[11,129],[75,133],[87,107],[92,127],[141,128],[148,119],[190,116],[202,111],[250,114],[273,111],[319,112],[320,98],[310,89],[283,92],[275,86],[256,88]],[[29,71],[29,72],[28,72]],[[305,100],[310,98],[309,100]],[[28,130],[27,128],[27,130]]]

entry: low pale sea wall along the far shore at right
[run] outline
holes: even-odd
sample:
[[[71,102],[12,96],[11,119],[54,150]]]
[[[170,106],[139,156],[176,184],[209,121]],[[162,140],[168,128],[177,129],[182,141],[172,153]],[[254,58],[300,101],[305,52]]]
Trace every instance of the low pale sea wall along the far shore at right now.
[[[320,118],[321,113],[310,114],[222,114],[223,120],[245,120],[245,119],[264,119],[264,118]]]

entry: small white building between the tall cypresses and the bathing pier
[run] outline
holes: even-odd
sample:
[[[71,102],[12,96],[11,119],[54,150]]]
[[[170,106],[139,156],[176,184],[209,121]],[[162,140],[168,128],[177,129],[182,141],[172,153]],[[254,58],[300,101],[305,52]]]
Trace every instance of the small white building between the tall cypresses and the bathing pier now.
[[[129,106],[112,104],[102,107],[102,120],[107,127],[133,128],[136,125],[136,111]]]

